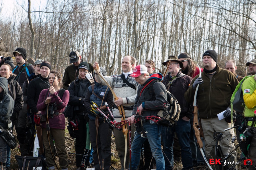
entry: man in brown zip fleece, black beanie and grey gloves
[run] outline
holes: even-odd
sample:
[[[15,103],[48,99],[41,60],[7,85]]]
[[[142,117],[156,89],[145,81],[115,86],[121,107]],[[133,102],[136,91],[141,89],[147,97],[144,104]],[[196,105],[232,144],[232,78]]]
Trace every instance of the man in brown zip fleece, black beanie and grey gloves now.
[[[184,97],[187,102],[192,103],[196,91],[196,86],[199,84],[197,92],[197,104],[201,120],[202,129],[205,140],[205,153],[208,158],[211,157],[210,152],[215,146],[216,141],[213,139],[215,132],[223,134],[223,140],[219,141],[223,155],[227,154],[229,146],[231,150],[234,145],[230,144],[230,140],[234,137],[234,129],[223,131],[223,129],[232,126],[228,118],[231,118],[230,99],[233,91],[238,85],[238,80],[228,70],[221,69],[217,64],[218,55],[214,50],[207,50],[202,56],[204,63],[204,71],[201,77],[197,75],[191,82],[190,87],[185,92]],[[219,120],[217,114],[223,113],[227,119]],[[237,162],[236,152],[232,153],[228,162]],[[237,169],[237,165],[235,166]]]

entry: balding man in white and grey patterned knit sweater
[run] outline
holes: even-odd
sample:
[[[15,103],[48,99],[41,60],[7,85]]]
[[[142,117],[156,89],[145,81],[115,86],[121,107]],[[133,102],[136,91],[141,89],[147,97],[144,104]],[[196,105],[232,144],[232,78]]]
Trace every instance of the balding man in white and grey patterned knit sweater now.
[[[113,115],[115,120],[120,122],[121,115],[118,110],[118,106],[123,105],[125,110],[125,117],[130,117],[132,115],[133,105],[135,103],[135,98],[137,95],[137,87],[138,83],[134,80],[133,77],[130,76],[133,70],[132,68],[136,66],[136,59],[132,56],[124,56],[122,60],[122,70],[123,73],[120,75],[111,75],[111,76],[103,76],[100,70],[100,66],[97,62],[94,62],[93,68],[94,70],[98,69],[99,73],[104,77],[104,79],[109,83],[111,88],[114,90],[118,99],[114,101],[115,105],[113,106]],[[96,79],[99,83],[103,83],[106,85],[104,81],[98,74],[95,74]],[[132,140],[134,138],[134,132],[136,130],[135,125],[131,127]],[[115,135],[115,144],[116,150],[118,151],[118,156],[121,160],[122,170],[124,170],[124,158],[125,158],[125,139],[122,130],[114,129]],[[129,143],[127,141],[127,143]],[[125,161],[125,169],[129,167],[129,148],[127,148],[126,152],[126,161]]]

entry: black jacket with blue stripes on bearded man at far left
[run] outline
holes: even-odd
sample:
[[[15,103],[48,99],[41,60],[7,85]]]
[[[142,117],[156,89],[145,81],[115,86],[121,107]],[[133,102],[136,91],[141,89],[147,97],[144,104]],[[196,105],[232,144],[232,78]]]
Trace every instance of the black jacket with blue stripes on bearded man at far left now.
[[[27,81],[27,78],[29,78],[30,74],[34,72],[34,67],[32,65],[27,66],[25,70],[22,71],[22,73],[19,75],[20,71],[23,69],[25,65],[29,64],[28,62],[25,62],[21,67],[16,66],[13,69],[13,73],[17,76],[15,77],[16,81],[19,83],[20,87],[22,88],[23,83]],[[19,75],[19,76],[18,76]],[[27,77],[26,77],[27,75]]]

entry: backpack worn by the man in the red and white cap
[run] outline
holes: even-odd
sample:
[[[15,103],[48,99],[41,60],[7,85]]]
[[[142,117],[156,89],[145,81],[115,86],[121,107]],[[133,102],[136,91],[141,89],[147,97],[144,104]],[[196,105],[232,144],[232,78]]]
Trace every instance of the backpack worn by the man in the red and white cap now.
[[[152,81],[149,84],[151,85],[150,88],[152,88],[153,84],[157,81],[158,80]],[[181,109],[178,100],[174,97],[174,95],[171,94],[167,89],[165,89],[165,91],[167,93],[167,101],[163,102],[163,109],[157,113],[157,116],[162,118],[162,120],[159,121],[159,124],[167,127],[172,127],[177,124]],[[168,106],[168,108],[164,108],[165,105]]]

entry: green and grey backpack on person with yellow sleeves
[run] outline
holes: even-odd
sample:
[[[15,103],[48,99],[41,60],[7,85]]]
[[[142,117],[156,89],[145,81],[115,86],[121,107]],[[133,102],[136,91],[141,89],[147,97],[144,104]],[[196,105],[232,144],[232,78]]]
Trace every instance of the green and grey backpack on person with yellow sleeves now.
[[[243,100],[243,90],[242,90],[242,83],[244,82],[245,79],[248,77],[255,77],[256,75],[248,75],[244,77],[239,84],[237,85],[235,91],[233,92],[231,99],[230,99],[230,104],[231,104],[231,111],[233,109],[237,112],[243,113],[245,104]],[[231,114],[232,115],[232,114]]]

